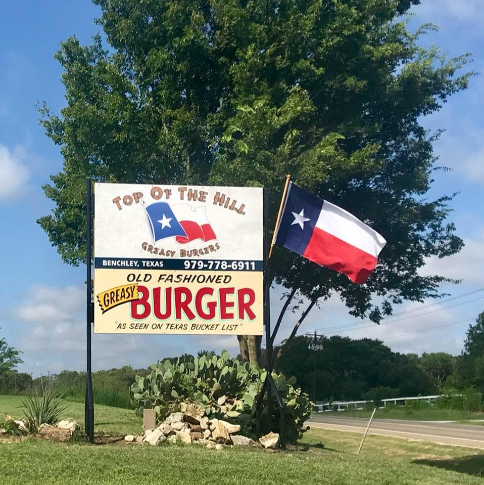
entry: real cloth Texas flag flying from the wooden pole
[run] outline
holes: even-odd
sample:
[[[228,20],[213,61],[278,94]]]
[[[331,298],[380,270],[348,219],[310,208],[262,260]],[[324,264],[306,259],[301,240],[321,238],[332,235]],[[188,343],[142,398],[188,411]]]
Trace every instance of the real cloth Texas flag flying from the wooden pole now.
[[[386,241],[346,210],[291,183],[276,244],[361,284],[375,269]]]

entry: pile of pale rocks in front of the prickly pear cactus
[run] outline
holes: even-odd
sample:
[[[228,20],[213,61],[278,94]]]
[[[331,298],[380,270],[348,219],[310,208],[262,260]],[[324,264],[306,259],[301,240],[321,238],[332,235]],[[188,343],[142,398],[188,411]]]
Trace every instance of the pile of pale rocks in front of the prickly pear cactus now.
[[[223,445],[258,446],[253,439],[237,434],[239,432],[239,424],[221,419],[209,419],[205,416],[203,408],[188,404],[184,413],[172,413],[157,428],[146,430],[142,436],[129,434],[124,437],[124,440],[150,445],[158,445],[165,441],[181,442],[186,445],[195,442],[217,450],[221,450]],[[262,436],[259,443],[264,448],[276,448],[279,444],[279,435],[271,432]]]

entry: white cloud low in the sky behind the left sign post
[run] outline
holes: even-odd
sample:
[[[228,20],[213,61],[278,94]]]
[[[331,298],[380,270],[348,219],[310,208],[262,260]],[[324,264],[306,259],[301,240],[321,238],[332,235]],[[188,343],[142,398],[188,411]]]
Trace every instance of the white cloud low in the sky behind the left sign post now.
[[[85,369],[85,287],[38,285],[28,295],[13,312],[22,325],[22,370],[38,374]],[[185,351],[173,336],[93,334],[92,368],[142,368]]]

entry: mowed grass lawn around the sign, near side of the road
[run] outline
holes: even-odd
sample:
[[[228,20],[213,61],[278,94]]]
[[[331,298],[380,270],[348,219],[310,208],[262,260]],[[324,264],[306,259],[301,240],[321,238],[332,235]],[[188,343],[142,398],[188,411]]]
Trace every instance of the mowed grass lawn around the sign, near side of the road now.
[[[21,398],[0,396],[0,416],[20,417]],[[83,422],[83,405],[73,403],[65,418]],[[139,432],[140,419],[129,410],[96,407],[96,431]],[[350,485],[480,484],[480,450],[439,446],[369,435],[357,457],[359,433],[312,429],[297,450],[202,446],[58,444],[30,438],[0,444],[0,485],[42,484],[300,484]]]

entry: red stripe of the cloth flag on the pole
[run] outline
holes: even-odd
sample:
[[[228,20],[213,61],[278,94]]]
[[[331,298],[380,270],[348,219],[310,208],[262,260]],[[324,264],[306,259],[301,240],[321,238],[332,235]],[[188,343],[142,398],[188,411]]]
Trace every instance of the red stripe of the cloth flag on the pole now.
[[[345,274],[354,283],[364,283],[377,259],[332,234],[315,227],[303,256],[331,270]]]

